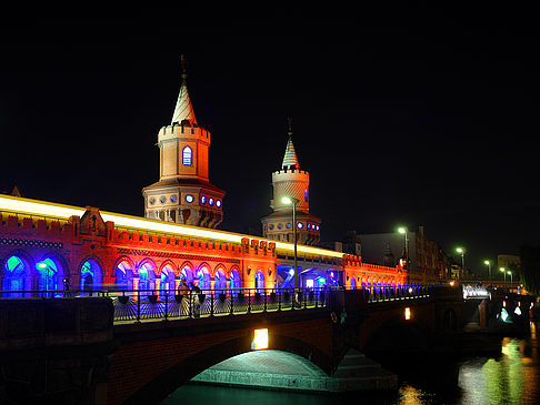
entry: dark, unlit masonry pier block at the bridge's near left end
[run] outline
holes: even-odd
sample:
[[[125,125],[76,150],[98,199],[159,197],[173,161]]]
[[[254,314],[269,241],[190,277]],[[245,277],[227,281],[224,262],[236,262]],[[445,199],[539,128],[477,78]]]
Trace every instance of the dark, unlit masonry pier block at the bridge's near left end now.
[[[107,403],[109,298],[0,300],[0,403]]]

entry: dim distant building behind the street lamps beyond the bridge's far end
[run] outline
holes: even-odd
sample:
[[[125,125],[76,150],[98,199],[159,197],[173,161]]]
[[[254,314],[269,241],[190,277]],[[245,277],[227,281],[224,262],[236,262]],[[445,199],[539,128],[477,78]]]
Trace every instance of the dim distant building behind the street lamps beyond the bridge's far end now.
[[[376,233],[359,235],[361,241],[362,262],[380,265],[393,265],[406,261],[404,235],[392,233]],[[409,283],[439,284],[452,277],[450,260],[442,247],[426,237],[423,226],[417,232],[409,232]]]

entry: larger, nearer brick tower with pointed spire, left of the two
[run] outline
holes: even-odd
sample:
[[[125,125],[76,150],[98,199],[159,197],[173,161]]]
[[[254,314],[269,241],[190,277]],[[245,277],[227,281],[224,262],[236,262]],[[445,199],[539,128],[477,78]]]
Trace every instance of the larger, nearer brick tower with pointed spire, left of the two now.
[[[210,132],[199,126],[188,94],[186,59],[182,84],[170,125],[158,133],[159,182],[142,190],[144,216],[186,225],[217,227],[223,220],[224,191],[210,184]]]

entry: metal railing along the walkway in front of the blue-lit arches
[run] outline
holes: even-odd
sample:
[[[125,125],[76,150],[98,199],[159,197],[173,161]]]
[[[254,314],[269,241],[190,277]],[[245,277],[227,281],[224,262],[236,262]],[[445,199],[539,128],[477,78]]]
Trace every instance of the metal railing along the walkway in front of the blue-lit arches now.
[[[4,298],[106,296],[112,300],[117,323],[301,311],[328,305],[328,292],[322,288],[3,291],[0,294]]]

